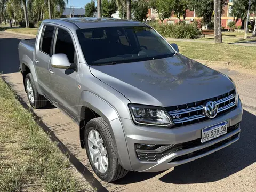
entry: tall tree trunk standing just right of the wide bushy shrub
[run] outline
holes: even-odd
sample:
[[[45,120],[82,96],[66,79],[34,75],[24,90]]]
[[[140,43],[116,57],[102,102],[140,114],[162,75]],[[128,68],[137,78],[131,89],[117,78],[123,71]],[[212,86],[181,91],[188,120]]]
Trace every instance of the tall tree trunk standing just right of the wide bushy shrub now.
[[[221,0],[214,0],[214,39],[215,43],[222,43],[221,34]]]

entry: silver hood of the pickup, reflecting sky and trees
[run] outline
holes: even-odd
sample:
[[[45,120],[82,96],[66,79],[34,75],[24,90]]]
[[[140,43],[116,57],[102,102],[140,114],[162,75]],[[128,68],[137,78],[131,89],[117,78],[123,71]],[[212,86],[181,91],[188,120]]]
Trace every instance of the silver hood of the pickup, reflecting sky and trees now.
[[[227,77],[180,54],[150,61],[90,66],[90,70],[132,103],[144,105],[182,105],[234,89]]]

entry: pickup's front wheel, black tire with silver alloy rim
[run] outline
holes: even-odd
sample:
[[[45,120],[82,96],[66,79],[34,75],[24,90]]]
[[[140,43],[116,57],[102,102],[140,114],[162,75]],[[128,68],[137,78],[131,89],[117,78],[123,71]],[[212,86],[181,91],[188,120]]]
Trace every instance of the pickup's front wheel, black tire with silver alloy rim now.
[[[86,124],[84,138],[89,162],[101,180],[115,181],[128,173],[118,162],[108,124],[102,117]]]

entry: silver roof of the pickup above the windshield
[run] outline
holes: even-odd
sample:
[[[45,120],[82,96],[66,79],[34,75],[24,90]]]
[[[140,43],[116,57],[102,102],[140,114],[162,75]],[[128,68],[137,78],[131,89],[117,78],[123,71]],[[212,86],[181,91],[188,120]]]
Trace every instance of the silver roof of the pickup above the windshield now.
[[[68,23],[73,23],[80,29],[86,28],[98,28],[98,27],[118,27],[118,26],[146,26],[145,23],[124,20],[124,19],[115,19],[115,18],[60,18],[60,19],[47,19],[44,22],[51,22],[56,24],[61,24],[63,21]]]

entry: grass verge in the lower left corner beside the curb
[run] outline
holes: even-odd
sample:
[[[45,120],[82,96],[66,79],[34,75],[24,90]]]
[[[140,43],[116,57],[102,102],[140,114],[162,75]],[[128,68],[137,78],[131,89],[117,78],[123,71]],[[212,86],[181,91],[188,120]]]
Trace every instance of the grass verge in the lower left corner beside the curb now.
[[[0,189],[85,191],[68,159],[0,78]]]

